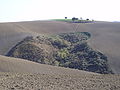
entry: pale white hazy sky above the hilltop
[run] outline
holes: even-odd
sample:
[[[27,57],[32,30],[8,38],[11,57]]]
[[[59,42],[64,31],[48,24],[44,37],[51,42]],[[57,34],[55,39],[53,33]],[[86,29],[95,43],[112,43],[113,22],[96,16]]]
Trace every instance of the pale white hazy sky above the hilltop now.
[[[120,0],[0,0],[0,22],[83,17],[120,21]]]

